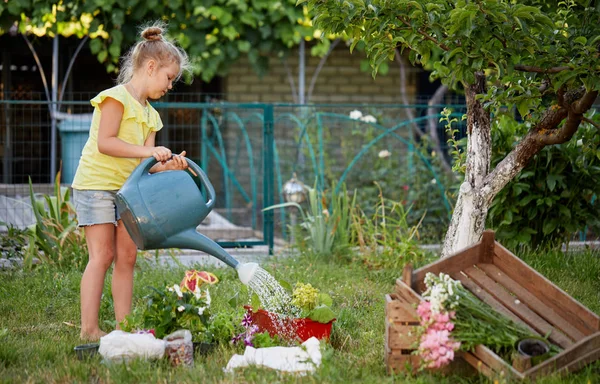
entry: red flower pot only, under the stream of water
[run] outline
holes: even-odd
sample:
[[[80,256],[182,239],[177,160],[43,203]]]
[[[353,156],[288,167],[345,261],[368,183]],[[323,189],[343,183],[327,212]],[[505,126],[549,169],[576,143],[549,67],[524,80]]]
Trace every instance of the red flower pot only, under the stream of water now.
[[[285,339],[299,339],[306,341],[311,337],[329,339],[331,326],[335,319],[327,324],[319,323],[307,318],[282,319],[279,315],[259,309],[252,312],[252,307],[244,306],[248,310],[252,323],[258,327],[259,332],[269,332],[271,336],[279,335]]]

